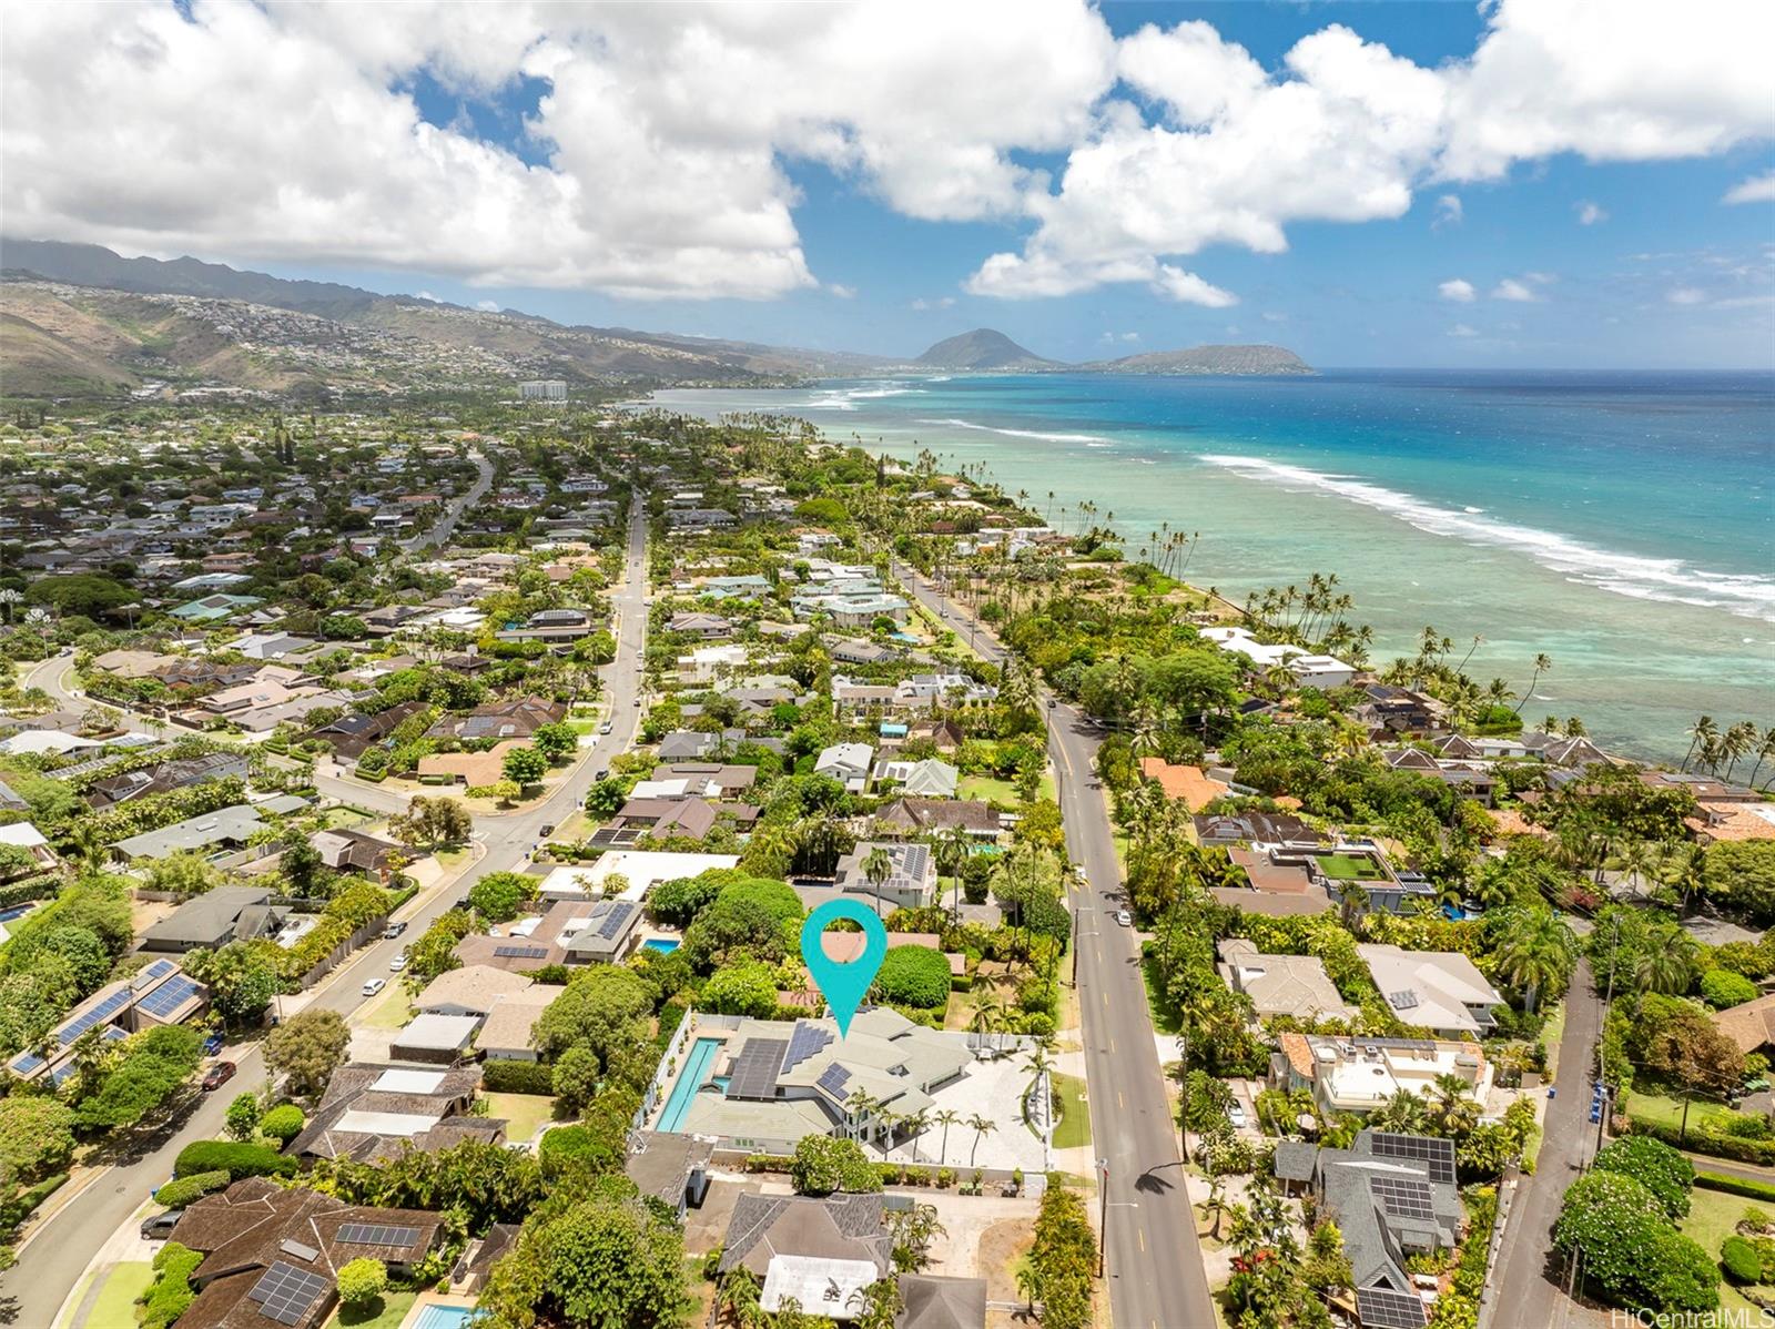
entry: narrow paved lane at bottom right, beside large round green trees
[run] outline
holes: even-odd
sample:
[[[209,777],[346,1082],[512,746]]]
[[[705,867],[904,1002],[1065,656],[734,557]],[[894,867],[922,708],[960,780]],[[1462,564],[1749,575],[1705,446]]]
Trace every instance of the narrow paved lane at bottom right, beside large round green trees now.
[[[1590,1079],[1603,1031],[1603,1001],[1590,987],[1590,962],[1580,960],[1566,995],[1566,1029],[1558,1040],[1558,1095],[1548,1104],[1534,1176],[1516,1184],[1511,1223],[1493,1269],[1491,1315],[1486,1329],[1542,1329],[1564,1324],[1574,1308],[1564,1278],[1550,1276],[1553,1221],[1566,1187],[1578,1180],[1596,1150],[1590,1123]],[[1558,1265],[1564,1274],[1564,1262]],[[1582,1318],[1582,1317],[1580,1317]]]

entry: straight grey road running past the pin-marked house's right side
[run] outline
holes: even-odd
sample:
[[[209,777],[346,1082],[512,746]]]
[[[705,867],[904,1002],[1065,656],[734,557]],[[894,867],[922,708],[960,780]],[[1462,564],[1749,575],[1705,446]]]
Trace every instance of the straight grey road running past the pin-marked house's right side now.
[[[948,616],[943,621],[973,628],[969,639],[985,660],[1003,662],[1003,646],[966,609],[911,568],[896,571],[919,603]],[[1104,1242],[1111,1317],[1116,1329],[1212,1329],[1214,1308],[1154,1045],[1140,942],[1132,928],[1115,921],[1122,869],[1097,788],[1099,740],[1072,706],[1056,699],[1045,713],[1067,848],[1090,882],[1074,891],[1072,917],[1092,1139],[1109,1166]]]

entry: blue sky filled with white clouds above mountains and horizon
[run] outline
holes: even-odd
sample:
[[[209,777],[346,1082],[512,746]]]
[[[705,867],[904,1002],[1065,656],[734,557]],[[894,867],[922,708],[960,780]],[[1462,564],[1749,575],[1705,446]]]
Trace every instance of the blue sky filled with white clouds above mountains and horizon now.
[[[916,355],[1775,367],[1775,5],[5,4],[0,229]]]

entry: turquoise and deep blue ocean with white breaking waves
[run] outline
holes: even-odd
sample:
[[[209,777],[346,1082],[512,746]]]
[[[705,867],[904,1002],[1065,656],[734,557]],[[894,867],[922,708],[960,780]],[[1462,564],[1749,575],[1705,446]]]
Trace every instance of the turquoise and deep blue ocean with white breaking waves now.
[[[1681,758],[1702,713],[1775,724],[1775,374],[939,374],[655,401],[983,463],[1056,525],[1113,513],[1129,550],[1200,532],[1187,578],[1235,602],[1337,573],[1377,664],[1427,625],[1457,657],[1479,633],[1468,672],[1521,692],[1546,653],[1523,719],[1580,715],[1626,754]]]

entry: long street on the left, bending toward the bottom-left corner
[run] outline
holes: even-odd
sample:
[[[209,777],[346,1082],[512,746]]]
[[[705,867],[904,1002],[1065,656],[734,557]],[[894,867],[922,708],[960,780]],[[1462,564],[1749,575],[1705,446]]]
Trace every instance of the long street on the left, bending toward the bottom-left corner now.
[[[481,859],[440,889],[408,901],[396,914],[396,917],[406,919],[408,935],[401,940],[378,940],[366,946],[311,990],[307,1006],[335,1010],[341,1015],[355,1011],[364,1003],[364,981],[376,976],[387,978],[389,962],[396,953],[414,935],[424,932],[483,875],[524,868],[532,848],[541,841],[543,825],[564,822],[586,797],[596,772],[609,767],[611,758],[628,747],[641,713],[634,703],[641,692],[648,621],[646,566],[646,513],[637,497],[628,525],[623,584],[612,600],[619,619],[618,651],[616,660],[604,671],[612,733],[600,736],[586,759],[543,802],[509,816],[477,818],[474,834],[485,850]],[[48,671],[60,688],[71,664],[71,660],[57,657],[41,665],[39,671],[60,665]],[[57,694],[51,692],[51,696]],[[351,802],[366,802],[366,793],[398,798],[385,790],[355,781],[328,779],[321,788]],[[222,1134],[229,1100],[241,1089],[256,1088],[264,1079],[264,1061],[257,1043],[231,1049],[227,1056],[240,1066],[240,1073],[229,1086],[220,1093],[204,1095],[195,1111],[185,1116],[165,1139],[156,1139],[149,1152],[133,1162],[106,1169],[50,1221],[32,1230],[18,1265],[0,1276],[0,1320],[11,1317],[11,1324],[21,1325],[21,1329],[48,1329],[94,1253],[121,1224],[131,1221],[154,1187],[172,1176],[172,1160],[179,1150],[195,1139],[213,1139]]]

